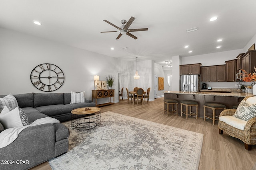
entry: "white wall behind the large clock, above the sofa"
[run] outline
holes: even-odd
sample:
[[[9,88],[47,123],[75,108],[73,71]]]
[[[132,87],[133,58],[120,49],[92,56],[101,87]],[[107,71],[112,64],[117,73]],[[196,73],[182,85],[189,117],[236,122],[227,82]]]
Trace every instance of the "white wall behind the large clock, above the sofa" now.
[[[60,67],[65,76],[62,87],[54,92],[85,91],[85,97],[91,99],[94,75],[105,80],[106,75],[112,74],[116,77],[113,88],[118,101],[118,72],[130,75],[134,69],[133,62],[9,29],[0,28],[0,37],[0,94],[43,93],[30,82],[30,73],[39,64],[51,63]]]

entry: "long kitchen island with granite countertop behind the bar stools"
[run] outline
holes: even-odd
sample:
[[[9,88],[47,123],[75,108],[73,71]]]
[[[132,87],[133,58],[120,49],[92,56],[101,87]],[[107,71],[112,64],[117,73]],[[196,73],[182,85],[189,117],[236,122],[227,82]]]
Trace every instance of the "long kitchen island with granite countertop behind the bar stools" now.
[[[198,102],[198,117],[204,117],[204,103],[219,103],[224,104],[227,109],[232,109],[246,96],[253,96],[252,93],[239,92],[180,92],[180,91],[166,91],[164,92],[164,99],[174,99],[179,102],[178,115],[180,115],[180,101],[192,100]],[[184,110],[184,109],[183,109]],[[207,109],[206,111],[210,111]],[[216,111],[216,115],[220,114],[221,110]]]

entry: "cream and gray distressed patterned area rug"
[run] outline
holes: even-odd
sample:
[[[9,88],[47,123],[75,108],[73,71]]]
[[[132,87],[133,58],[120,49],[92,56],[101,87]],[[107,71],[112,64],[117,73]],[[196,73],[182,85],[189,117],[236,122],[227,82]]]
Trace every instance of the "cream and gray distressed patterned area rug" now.
[[[196,170],[203,134],[113,112],[89,131],[71,128],[69,150],[49,160],[53,170]]]

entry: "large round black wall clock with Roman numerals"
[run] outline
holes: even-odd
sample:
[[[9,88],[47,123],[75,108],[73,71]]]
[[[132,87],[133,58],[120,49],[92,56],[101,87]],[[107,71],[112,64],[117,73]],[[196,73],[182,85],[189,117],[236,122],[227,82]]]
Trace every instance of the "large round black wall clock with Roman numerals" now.
[[[58,66],[45,63],[36,66],[32,70],[30,80],[39,90],[52,92],[62,86],[64,74]]]

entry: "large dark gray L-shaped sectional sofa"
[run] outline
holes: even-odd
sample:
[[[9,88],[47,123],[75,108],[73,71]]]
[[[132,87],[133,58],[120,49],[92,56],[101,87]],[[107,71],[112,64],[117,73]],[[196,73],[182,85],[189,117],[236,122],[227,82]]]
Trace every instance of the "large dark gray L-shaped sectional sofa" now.
[[[6,95],[0,95],[0,98],[4,96]],[[95,106],[95,103],[89,100],[85,100],[85,103],[70,104],[70,93],[27,93],[13,96],[30,123],[44,117],[53,117],[60,122],[68,121],[73,109]],[[59,156],[68,150],[68,136],[69,129],[60,123],[28,127],[14,142],[0,149],[1,160],[14,160],[14,164],[0,164],[0,169],[28,169]],[[25,162],[19,163],[20,160]]]

